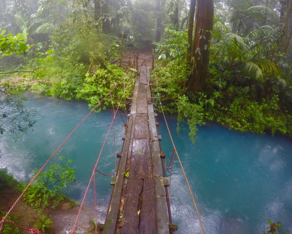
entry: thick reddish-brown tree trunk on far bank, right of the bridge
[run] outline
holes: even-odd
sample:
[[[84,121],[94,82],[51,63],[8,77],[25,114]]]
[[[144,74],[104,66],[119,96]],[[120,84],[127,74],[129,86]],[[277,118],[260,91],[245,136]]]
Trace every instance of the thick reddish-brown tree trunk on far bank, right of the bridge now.
[[[191,1],[192,4],[192,1]],[[197,0],[194,36],[192,40],[191,66],[188,81],[183,94],[189,90],[201,90],[206,81],[209,63],[209,45],[212,37],[214,18],[214,1]]]

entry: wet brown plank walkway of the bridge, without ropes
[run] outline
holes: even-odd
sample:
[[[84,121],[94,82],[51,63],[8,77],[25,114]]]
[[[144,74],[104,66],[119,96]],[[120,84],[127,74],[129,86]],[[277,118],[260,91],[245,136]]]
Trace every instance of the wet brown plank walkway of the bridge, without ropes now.
[[[169,233],[150,68],[143,64],[139,71],[118,175],[102,233]]]

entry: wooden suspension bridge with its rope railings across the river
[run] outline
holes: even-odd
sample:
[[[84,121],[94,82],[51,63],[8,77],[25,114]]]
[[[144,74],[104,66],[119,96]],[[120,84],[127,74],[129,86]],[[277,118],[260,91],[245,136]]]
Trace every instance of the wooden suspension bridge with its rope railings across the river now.
[[[152,68],[155,67],[154,55],[152,58]],[[147,60],[147,62],[151,62],[151,60]],[[138,51],[133,60],[133,68],[135,68],[134,64],[138,65]],[[129,71],[129,69],[128,69]],[[128,72],[127,71],[127,72]],[[126,73],[127,73],[126,72]],[[133,74],[134,75],[134,74]],[[133,78],[133,75],[131,78]],[[125,77],[125,76],[124,76]],[[123,77],[123,78],[124,78]],[[121,78],[119,82],[122,81]],[[155,75],[156,78],[156,75]],[[128,85],[130,84],[131,79],[128,81]],[[117,87],[119,82],[112,88]],[[157,83],[157,81],[156,81]],[[127,85],[127,87],[128,87]],[[126,88],[127,88],[126,87]],[[158,89],[158,88],[157,88]],[[112,90],[90,111],[97,108],[100,103],[108,96],[111,95]],[[124,94],[125,94],[125,80],[124,80]],[[120,99],[120,103],[123,99],[123,96]],[[159,94],[157,95],[159,97]],[[150,79],[150,67],[147,66],[145,57],[143,62],[138,66],[138,74],[136,77],[133,97],[129,98],[131,100],[131,108],[130,113],[128,114],[128,121],[126,124],[126,133],[122,137],[123,146],[121,152],[117,153],[117,157],[119,158],[119,164],[117,167],[117,172],[115,176],[112,177],[111,185],[113,186],[107,215],[105,218],[105,224],[103,225],[103,234],[164,234],[164,233],[173,233],[176,230],[176,226],[172,224],[171,220],[171,212],[170,212],[170,199],[168,197],[168,189],[169,186],[168,178],[165,177],[165,170],[163,159],[165,155],[162,153],[160,140],[161,136],[158,134],[158,125],[159,123],[156,120],[157,114],[155,100],[156,97],[152,95],[152,81]],[[118,105],[118,108],[120,106]],[[161,104],[161,103],[160,103]],[[161,111],[163,113],[162,106]],[[115,116],[117,114],[117,110],[114,110],[114,118],[112,123],[114,122]],[[33,183],[35,178],[39,175],[39,173],[44,169],[47,163],[53,158],[53,156],[57,153],[57,151],[62,147],[63,144],[69,139],[69,137],[75,132],[75,130],[85,121],[85,119],[90,115],[88,115],[77,125],[77,127],[70,133],[70,135],[65,139],[65,141],[58,147],[58,149],[52,154],[52,156],[48,159],[48,161],[41,167],[39,172],[35,175],[35,177],[30,181],[25,190],[21,193],[19,198],[7,212],[6,216],[2,218],[0,221],[0,233],[3,228],[5,222],[11,223],[15,226],[18,226],[24,230],[27,230],[29,233],[41,234],[41,232],[37,229],[28,229],[24,228],[12,221],[6,220],[6,217],[11,212],[16,203],[20,200],[22,195],[25,193],[27,188]],[[165,116],[164,116],[165,118]],[[166,121],[166,119],[165,119]],[[112,123],[109,127],[109,130],[112,126]],[[166,126],[168,128],[167,122]],[[107,136],[109,133],[107,132]],[[169,130],[168,130],[169,132]],[[170,132],[169,132],[170,134]],[[104,144],[106,142],[107,136],[105,137]],[[170,134],[171,137],[171,134]],[[171,137],[172,141],[172,137]],[[104,146],[103,144],[103,146]],[[175,145],[172,141],[174,154],[176,153],[178,160],[180,162],[180,158],[176,151]],[[81,202],[79,212],[77,214],[77,218],[75,220],[74,226],[71,229],[71,234],[74,234],[74,230],[77,226],[77,220],[79,214],[81,212],[82,205],[84,203],[86,194],[88,192],[88,188],[91,182],[94,182],[94,193],[95,189],[95,171],[97,168],[98,160],[100,158],[103,146],[101,148],[100,154],[96,161],[95,167],[93,169],[91,178],[88,183],[88,187],[85,191],[84,198]],[[180,162],[182,167],[182,164]],[[182,167],[183,170],[183,167]],[[185,172],[183,170],[185,175]],[[185,175],[185,179],[187,181],[187,177]],[[187,185],[189,187],[194,206],[197,211],[197,215],[201,224],[201,228],[203,234],[205,234],[203,224],[201,222],[201,218],[194,201],[194,197],[192,195],[192,191],[190,189],[189,183],[187,181]],[[95,196],[95,223],[97,222],[97,214],[96,214],[96,195]],[[97,224],[97,223],[96,223]],[[96,225],[97,226],[97,225]],[[97,233],[97,229],[95,226],[95,233]]]

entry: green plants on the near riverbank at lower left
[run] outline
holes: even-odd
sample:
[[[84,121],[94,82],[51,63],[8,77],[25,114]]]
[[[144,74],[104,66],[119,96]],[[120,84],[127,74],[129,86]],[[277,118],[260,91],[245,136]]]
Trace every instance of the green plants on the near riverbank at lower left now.
[[[46,230],[49,229],[51,223],[53,223],[51,219],[43,214],[44,209],[47,209],[49,206],[55,209],[61,200],[67,199],[63,192],[65,188],[70,187],[75,182],[75,171],[70,167],[72,160],[59,156],[59,162],[56,163],[57,164],[51,165],[48,170],[41,172],[23,195],[23,200],[26,204],[23,209],[26,209],[27,205],[30,205],[35,212],[42,214],[40,219],[36,219],[34,228],[41,230],[43,233],[46,233]],[[38,171],[36,171],[35,174],[37,172]],[[34,175],[32,177],[34,177]],[[0,181],[1,195],[7,191],[9,191],[9,193],[11,193],[10,191],[16,191],[20,194],[28,185],[25,182],[15,180],[13,175],[8,173],[7,168],[0,168]],[[69,204],[73,207],[79,203],[75,200],[69,200]],[[0,208],[0,214],[2,217],[7,213],[1,209],[2,208]],[[20,217],[20,215],[8,215],[6,220],[18,223]],[[17,234],[20,233],[20,228],[11,223],[5,223],[2,233]]]

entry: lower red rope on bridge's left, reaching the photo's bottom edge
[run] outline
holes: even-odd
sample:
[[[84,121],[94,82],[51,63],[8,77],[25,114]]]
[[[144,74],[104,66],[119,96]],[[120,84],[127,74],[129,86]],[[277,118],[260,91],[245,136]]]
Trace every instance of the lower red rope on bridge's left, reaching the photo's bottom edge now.
[[[137,56],[137,55],[136,55],[136,56]],[[129,69],[130,69],[130,68],[129,68]],[[129,69],[128,69],[128,70],[129,70]],[[132,78],[133,78],[133,76],[131,76],[131,78],[129,79],[126,89],[128,88],[128,85],[129,85],[129,83],[130,83],[130,81],[131,81]],[[122,99],[123,99],[123,97],[124,97],[124,95],[125,95],[126,89],[124,90],[124,93],[123,93],[123,95],[122,95],[122,97],[121,97],[121,99],[120,99],[120,101],[119,101],[119,104],[118,104],[118,107],[117,107],[117,111],[118,111],[119,106],[120,106],[120,104],[121,104],[121,101],[122,101]],[[107,135],[105,136],[105,140],[104,140],[104,142],[103,142],[103,144],[102,144],[102,147],[101,147],[100,153],[99,153],[98,158],[97,158],[97,160],[96,160],[96,163],[95,163],[95,166],[94,166],[93,172],[92,172],[91,177],[90,177],[89,182],[88,182],[88,186],[87,186],[87,188],[86,188],[86,191],[85,191],[85,193],[84,193],[84,197],[83,197],[82,202],[81,202],[81,204],[80,204],[79,212],[78,212],[77,217],[76,217],[76,219],[75,219],[75,223],[74,223],[74,226],[73,226],[73,228],[72,228],[71,234],[74,234],[74,229],[76,228],[76,224],[77,224],[77,220],[78,220],[78,218],[79,218],[80,212],[81,212],[81,208],[82,208],[82,206],[83,206],[83,203],[84,203],[85,197],[86,197],[86,195],[87,195],[87,192],[88,192],[88,189],[89,189],[90,183],[91,183],[91,181],[92,181],[93,174],[95,173],[95,170],[96,170],[96,167],[97,167],[97,164],[98,164],[98,161],[99,161],[100,155],[101,155],[102,150],[103,150],[103,147],[105,146],[105,142],[106,142],[107,137],[108,137],[108,135],[109,135],[109,131],[110,131],[110,129],[112,128],[112,124],[113,124],[114,119],[115,119],[115,117],[116,117],[117,111],[114,112],[114,117],[113,117],[113,119],[112,119],[112,123],[111,123],[110,126],[109,126],[109,130],[107,131]]]

